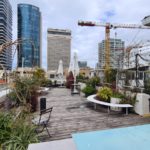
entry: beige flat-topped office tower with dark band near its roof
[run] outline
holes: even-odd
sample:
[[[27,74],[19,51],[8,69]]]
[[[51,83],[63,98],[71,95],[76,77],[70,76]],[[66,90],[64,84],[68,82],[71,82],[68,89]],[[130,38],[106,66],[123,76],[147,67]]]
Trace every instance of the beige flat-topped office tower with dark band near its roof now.
[[[71,51],[71,31],[61,29],[47,30],[47,69],[57,70],[59,60],[63,68],[69,67]]]

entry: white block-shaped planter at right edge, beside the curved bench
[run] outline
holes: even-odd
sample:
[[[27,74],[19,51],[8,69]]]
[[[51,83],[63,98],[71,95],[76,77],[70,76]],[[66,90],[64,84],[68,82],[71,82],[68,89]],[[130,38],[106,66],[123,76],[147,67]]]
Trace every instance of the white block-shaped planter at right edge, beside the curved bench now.
[[[150,114],[150,105],[149,105],[150,95],[145,93],[138,93],[136,96],[136,103],[134,110],[139,115]]]

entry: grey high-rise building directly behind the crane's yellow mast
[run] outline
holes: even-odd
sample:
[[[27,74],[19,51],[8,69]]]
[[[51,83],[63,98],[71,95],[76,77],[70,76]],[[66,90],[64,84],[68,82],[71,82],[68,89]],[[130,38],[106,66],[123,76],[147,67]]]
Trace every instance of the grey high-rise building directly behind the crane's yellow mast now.
[[[110,67],[113,69],[123,67],[124,41],[121,39],[110,39]],[[105,67],[105,40],[99,43],[98,66]]]

